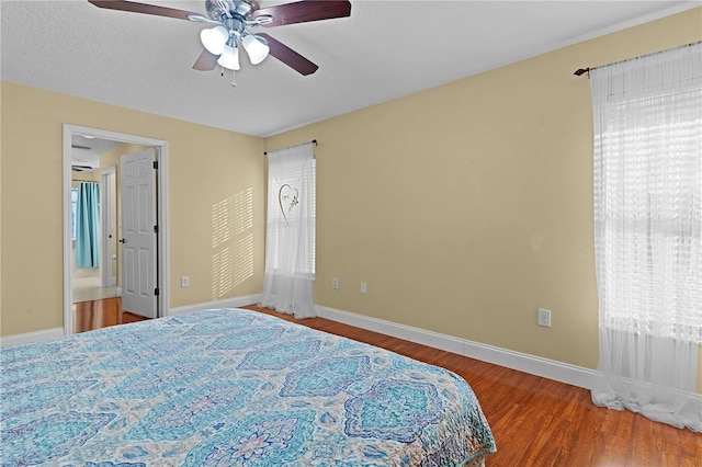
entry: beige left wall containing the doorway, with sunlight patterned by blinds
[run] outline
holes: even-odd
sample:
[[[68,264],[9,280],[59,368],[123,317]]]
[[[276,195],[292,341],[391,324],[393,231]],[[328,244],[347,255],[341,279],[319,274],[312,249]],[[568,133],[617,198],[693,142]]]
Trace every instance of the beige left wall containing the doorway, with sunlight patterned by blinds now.
[[[261,292],[260,138],[8,81],[0,93],[1,335],[63,327],[64,123],[168,141],[171,307]]]

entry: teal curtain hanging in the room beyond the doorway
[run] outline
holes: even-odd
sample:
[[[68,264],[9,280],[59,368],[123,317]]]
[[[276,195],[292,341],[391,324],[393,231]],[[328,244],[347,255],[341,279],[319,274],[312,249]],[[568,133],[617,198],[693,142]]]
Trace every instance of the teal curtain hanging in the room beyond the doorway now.
[[[81,182],[76,201],[76,265],[100,266],[100,184]]]

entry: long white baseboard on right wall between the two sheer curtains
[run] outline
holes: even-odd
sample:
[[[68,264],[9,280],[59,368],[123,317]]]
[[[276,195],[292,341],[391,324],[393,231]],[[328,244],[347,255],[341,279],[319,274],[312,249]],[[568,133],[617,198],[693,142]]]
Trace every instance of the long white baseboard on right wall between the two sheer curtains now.
[[[600,373],[595,369],[570,365],[554,360],[542,358],[520,352],[500,349],[492,345],[482,344],[465,339],[440,334],[411,326],[399,324],[377,318],[356,315],[349,311],[341,311],[335,308],[317,306],[317,316],[344,324],[369,331],[392,335],[430,348],[440,349],[446,352],[467,356],[471,358],[488,362],[495,365],[506,366],[519,372],[554,379],[573,386],[592,389],[592,386]]]

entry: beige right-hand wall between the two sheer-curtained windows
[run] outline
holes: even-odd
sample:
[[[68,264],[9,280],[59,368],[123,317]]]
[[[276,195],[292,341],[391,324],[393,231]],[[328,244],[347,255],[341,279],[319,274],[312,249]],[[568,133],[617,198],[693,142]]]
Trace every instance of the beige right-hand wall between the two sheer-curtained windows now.
[[[701,25],[695,9],[269,138],[319,141],[316,303],[595,368],[592,115],[573,71]]]

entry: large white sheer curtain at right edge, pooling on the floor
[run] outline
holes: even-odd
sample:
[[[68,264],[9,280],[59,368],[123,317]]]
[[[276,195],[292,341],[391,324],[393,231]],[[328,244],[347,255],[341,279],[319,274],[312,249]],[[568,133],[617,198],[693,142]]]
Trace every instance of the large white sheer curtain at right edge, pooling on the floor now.
[[[702,43],[598,68],[599,406],[702,431]]]

